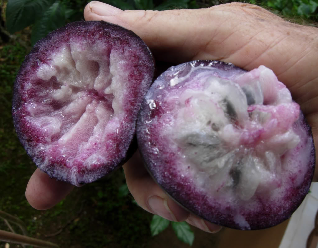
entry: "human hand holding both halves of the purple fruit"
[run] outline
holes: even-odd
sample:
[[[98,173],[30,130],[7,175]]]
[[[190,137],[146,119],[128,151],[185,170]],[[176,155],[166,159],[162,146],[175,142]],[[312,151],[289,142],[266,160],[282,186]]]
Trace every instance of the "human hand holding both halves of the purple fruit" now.
[[[286,22],[260,7],[245,3],[199,10],[122,11],[93,1],[86,6],[84,17],[119,24],[134,31],[159,61],[179,64],[195,59],[215,59],[246,70],[259,65],[271,68],[301,105],[317,143],[316,28]],[[145,210],[169,220],[186,220],[204,231],[220,229],[171,200],[144,169],[138,153],[123,168],[130,192]],[[317,177],[315,173],[315,181]],[[50,181],[53,184],[48,187]],[[33,207],[43,209],[58,203],[71,189],[72,186],[49,179],[37,170],[30,179],[26,196]]]

